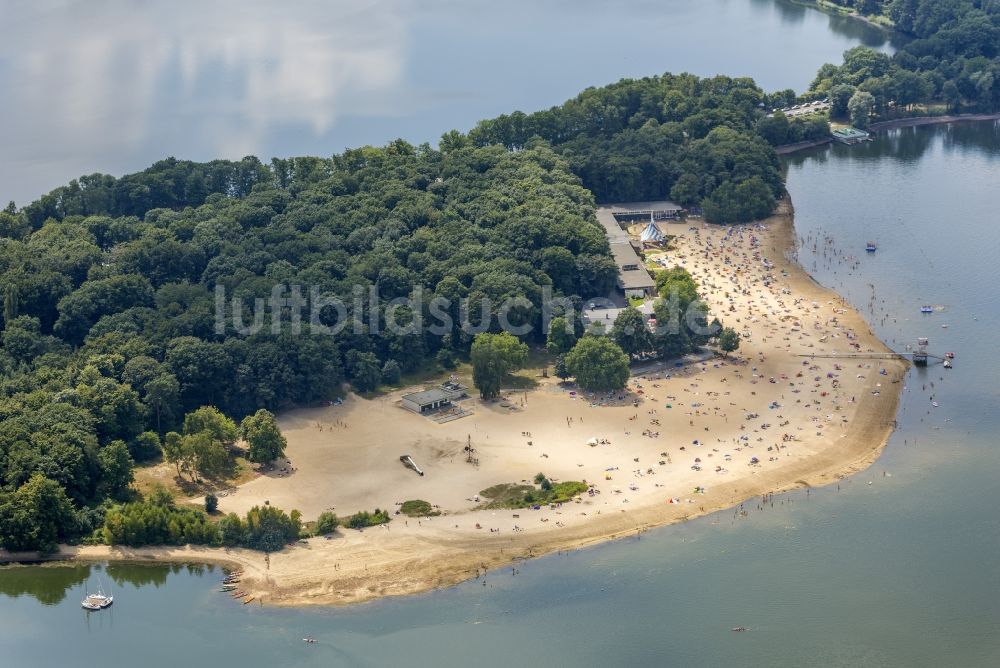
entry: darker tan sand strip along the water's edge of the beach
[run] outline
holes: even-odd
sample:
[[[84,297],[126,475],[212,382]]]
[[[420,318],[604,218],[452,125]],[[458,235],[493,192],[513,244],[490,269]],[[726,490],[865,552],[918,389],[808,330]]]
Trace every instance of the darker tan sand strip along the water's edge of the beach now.
[[[889,351],[874,336],[860,313],[849,307],[836,292],[818,284],[804,268],[790,259],[796,247],[794,209],[790,200],[782,201],[775,214],[763,223],[767,227],[764,236],[767,245],[761,250],[774,259],[775,270],[787,272],[786,280],[795,288],[796,294],[813,300],[814,304],[820,300],[838,304],[843,309],[837,311],[838,317],[857,332],[859,341],[866,349]],[[242,569],[244,584],[266,605],[347,605],[387,596],[424,593],[485,575],[492,569],[510,567],[523,559],[632,537],[650,528],[732,508],[757,496],[823,486],[860,472],[881,455],[892,434],[903,387],[901,379],[908,365],[902,360],[892,360],[886,361],[884,367],[888,374],[881,378],[892,379],[899,387],[885,392],[884,396],[877,396],[875,400],[855,404],[850,424],[843,428],[840,440],[823,447],[817,446],[815,453],[792,460],[777,471],[735,478],[726,485],[725,491],[720,489],[722,483],[716,483],[710,493],[697,503],[688,500],[689,505],[668,505],[662,498],[665,493],[656,493],[658,502],[636,503],[627,512],[620,509],[620,512],[600,517],[591,515],[586,521],[576,524],[566,519],[567,524],[560,529],[546,525],[537,532],[533,528],[529,532],[513,535],[439,528],[439,525],[453,519],[479,519],[486,511],[446,515],[433,523],[427,521],[428,526],[421,530],[423,533],[399,527],[405,519],[399,517],[384,528],[373,527],[363,533],[341,529],[333,540],[313,538],[305,545],[297,544],[273,553],[269,558],[263,553],[245,549],[98,545],[64,546],[58,553],[44,557],[0,553],[0,563],[79,560],[214,564]],[[876,386],[877,380],[879,376],[876,375],[863,387],[870,390]],[[777,393],[776,389],[765,398]],[[483,410],[478,406],[477,409]],[[597,515],[600,514],[598,510]],[[434,524],[433,528],[431,524]],[[455,527],[457,529],[458,525]],[[394,528],[397,530],[392,531]]]

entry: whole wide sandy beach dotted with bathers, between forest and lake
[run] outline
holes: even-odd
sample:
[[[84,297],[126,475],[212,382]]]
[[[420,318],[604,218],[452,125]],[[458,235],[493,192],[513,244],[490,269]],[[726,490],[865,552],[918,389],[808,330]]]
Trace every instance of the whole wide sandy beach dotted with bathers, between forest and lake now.
[[[868,325],[793,260],[790,203],[761,225],[669,225],[667,264],[687,268],[712,314],[744,335],[730,359],[649,366],[626,392],[587,397],[555,379],[438,424],[401,408],[402,392],[280,416],[287,471],[220,499],[347,516],[408,499],[440,516],[302,541],[270,555],[209,548],[68,548],[81,559],[225,563],[264,605],[348,604],[412,594],[557,550],[635,535],[746,499],[824,485],[868,466],[892,430],[906,364],[824,355],[886,352]],[[815,357],[810,357],[815,355]],[[412,389],[412,388],[411,388]],[[598,445],[588,442],[597,439]],[[464,448],[475,450],[469,463]],[[403,467],[411,455],[424,476]],[[593,487],[539,510],[483,509],[498,483]]]

